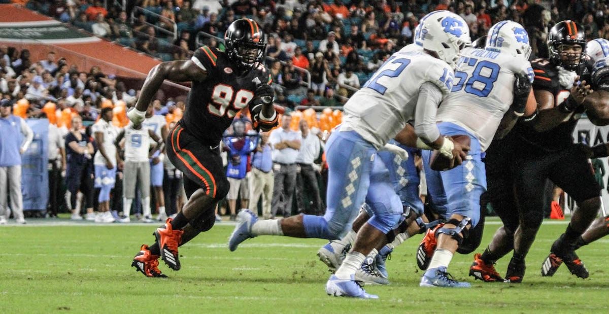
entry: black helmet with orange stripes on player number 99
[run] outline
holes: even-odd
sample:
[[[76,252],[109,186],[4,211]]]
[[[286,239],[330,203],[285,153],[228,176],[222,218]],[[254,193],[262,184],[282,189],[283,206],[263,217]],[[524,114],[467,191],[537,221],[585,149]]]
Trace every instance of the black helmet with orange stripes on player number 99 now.
[[[264,61],[266,39],[253,19],[241,18],[231,23],[224,33],[224,44],[228,58],[239,68],[253,69]]]

